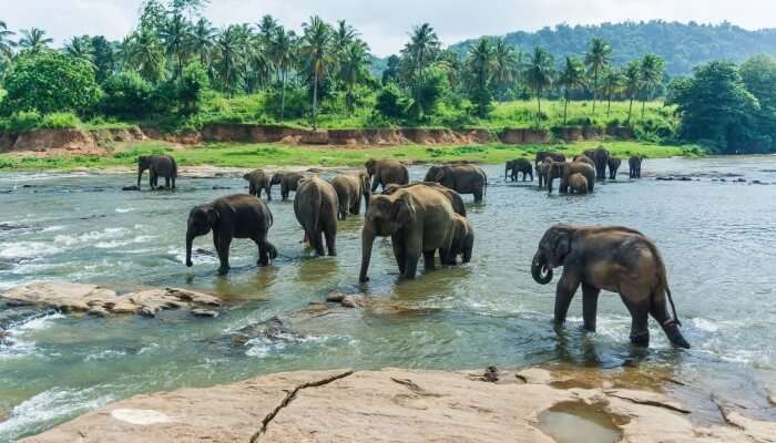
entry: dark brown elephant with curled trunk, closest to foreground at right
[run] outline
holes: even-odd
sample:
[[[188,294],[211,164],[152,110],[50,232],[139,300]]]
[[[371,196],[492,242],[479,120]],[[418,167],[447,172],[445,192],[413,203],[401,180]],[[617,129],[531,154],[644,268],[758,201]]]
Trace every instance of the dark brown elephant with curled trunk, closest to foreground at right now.
[[[531,262],[540,285],[552,280],[552,269],[563,267],[555,290],[554,321],[565,321],[574,292],[582,285],[584,328],[595,331],[601,289],[620,293],[631,312],[631,342],[649,347],[647,320],[657,320],[671,343],[690,348],[678,327],[676,307],[668,288],[665,264],[657,247],[637,230],[620,227],[555,225],[544,233]],[[668,315],[667,301],[673,317]]]

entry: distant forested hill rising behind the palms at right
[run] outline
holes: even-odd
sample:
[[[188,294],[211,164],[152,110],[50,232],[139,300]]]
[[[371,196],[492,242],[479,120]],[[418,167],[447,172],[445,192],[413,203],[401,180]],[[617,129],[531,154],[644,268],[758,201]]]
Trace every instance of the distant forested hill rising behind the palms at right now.
[[[758,53],[776,55],[776,29],[748,31],[726,22],[714,25],[665,21],[559,24],[538,32],[518,31],[506,35],[524,52],[535,47],[548,49],[559,64],[566,55],[581,56],[593,37],[601,37],[612,45],[616,65],[652,52],[666,60],[670,75],[690,74],[693,66],[711,60],[741,62]],[[456,43],[450,49],[466,54],[472,42]]]

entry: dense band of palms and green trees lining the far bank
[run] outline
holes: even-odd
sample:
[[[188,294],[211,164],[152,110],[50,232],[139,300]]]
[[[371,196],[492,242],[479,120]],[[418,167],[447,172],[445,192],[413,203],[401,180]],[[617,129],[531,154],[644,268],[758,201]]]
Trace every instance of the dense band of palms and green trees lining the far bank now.
[[[717,64],[671,79],[663,56],[626,59],[600,35],[555,56],[551,45],[517,50],[510,37],[446,49],[433,27],[422,23],[374,72],[368,43],[344,20],[314,16],[298,33],[270,16],[218,29],[202,14],[206,3],[146,0],[123,40],[76,35],[59,49],[42,29],[17,31],[0,20],[0,131],[82,122],[170,131],[211,122],[314,128],[626,125],[641,140],[683,137],[719,151],[769,150],[776,140],[767,81],[776,70],[767,55],[751,59],[741,72],[725,63],[725,79],[704,76]],[[729,101],[712,100],[719,87],[731,90]],[[709,100],[698,101],[701,92]],[[729,119],[708,120],[712,109]],[[704,130],[716,122],[727,123]]]

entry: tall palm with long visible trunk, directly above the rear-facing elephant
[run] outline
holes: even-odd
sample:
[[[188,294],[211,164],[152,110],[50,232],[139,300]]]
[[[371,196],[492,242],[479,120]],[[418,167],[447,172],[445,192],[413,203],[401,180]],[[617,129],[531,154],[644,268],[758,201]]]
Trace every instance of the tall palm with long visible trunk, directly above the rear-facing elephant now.
[[[331,62],[333,53],[331,28],[318,16],[313,16],[310,21],[303,23],[304,30],[302,55],[313,78],[313,128],[317,128],[318,113],[318,82],[326,75]]]

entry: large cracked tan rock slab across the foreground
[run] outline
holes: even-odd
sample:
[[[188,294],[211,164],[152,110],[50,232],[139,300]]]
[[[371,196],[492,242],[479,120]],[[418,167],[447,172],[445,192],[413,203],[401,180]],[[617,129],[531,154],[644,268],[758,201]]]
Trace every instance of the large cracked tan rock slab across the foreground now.
[[[539,415],[573,403],[610,414],[622,441],[769,442],[772,423],[731,412],[698,427],[654,393],[558,389],[550,372],[498,384],[472,373],[384,369],[287,372],[137,395],[22,442],[540,442]],[[501,378],[507,374],[500,374]],[[515,374],[511,375],[515,379]],[[611,395],[611,394],[617,395]],[[644,400],[643,402],[634,400]],[[582,441],[582,440],[581,440]]]

